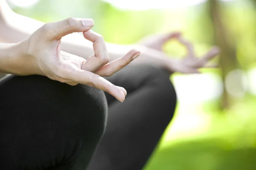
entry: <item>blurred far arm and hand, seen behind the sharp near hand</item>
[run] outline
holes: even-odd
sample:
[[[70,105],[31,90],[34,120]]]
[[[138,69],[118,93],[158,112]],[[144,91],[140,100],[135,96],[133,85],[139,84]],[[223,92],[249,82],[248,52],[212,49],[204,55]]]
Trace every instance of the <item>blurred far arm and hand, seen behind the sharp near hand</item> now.
[[[44,23],[40,21],[16,14],[9,8],[5,0],[0,0],[0,18],[0,29],[3,30],[0,31],[0,40],[9,43],[20,42],[26,39],[35,30],[44,25]],[[175,35],[177,33],[151,35],[131,45],[106,43],[110,61],[122,57],[130,49],[135,48],[141,52],[141,55],[131,64],[160,66],[169,70],[170,73],[198,73],[198,68],[205,67],[205,63],[208,62],[209,59],[216,57],[220,52],[218,47],[213,47],[203,56],[203,59],[198,59],[190,50],[189,55],[184,59],[174,59],[168,56],[161,48],[163,44],[170,39],[175,38],[176,40],[181,40],[173,36],[173,34]],[[180,37],[183,39],[183,41],[180,41],[183,45],[189,45],[189,42],[186,41],[181,34]],[[145,42],[145,40],[147,42]],[[84,37],[80,35],[69,34],[62,38],[61,43],[62,51],[83,57],[84,59],[88,59],[90,55],[94,54],[91,42],[84,40]],[[189,46],[192,47],[191,44]]]

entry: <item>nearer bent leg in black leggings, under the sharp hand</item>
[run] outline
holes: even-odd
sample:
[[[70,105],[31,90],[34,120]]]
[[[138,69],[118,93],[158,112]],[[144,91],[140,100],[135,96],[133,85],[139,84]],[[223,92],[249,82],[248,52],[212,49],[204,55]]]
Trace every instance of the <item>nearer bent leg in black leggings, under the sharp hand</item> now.
[[[43,76],[0,81],[0,169],[84,170],[105,131],[105,94]]]

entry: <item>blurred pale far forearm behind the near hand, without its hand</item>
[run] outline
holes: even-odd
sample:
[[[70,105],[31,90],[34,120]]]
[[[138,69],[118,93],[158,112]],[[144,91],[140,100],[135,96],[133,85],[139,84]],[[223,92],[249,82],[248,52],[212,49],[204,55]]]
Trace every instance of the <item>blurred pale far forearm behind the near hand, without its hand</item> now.
[[[2,3],[1,13],[3,18],[1,18],[2,21],[0,21],[0,28],[3,31],[0,31],[0,40],[3,40],[4,42],[20,42],[44,25],[43,22],[16,14],[9,8],[9,6],[7,6],[6,3]],[[82,35],[67,35],[62,38],[61,43],[61,50],[85,59],[94,54],[92,43],[85,40]],[[132,63],[147,63],[159,66],[166,65],[166,57],[160,57],[162,55],[157,54],[159,51],[140,45],[119,45],[111,43],[106,43],[106,45],[111,61],[122,57],[132,48],[136,48],[141,51],[141,55]]]

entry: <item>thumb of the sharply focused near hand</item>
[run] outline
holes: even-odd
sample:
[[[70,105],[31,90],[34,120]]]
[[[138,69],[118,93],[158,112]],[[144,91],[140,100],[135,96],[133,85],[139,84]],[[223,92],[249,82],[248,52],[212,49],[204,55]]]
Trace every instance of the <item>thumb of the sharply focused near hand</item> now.
[[[90,30],[94,25],[92,19],[67,18],[55,23],[45,24],[45,30],[50,40],[59,40],[67,34],[73,32],[83,32]]]

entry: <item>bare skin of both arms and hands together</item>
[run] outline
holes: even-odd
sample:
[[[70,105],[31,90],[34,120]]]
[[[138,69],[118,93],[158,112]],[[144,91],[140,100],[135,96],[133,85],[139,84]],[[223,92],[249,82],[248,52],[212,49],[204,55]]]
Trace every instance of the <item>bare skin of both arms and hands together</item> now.
[[[170,73],[198,73],[199,68],[205,67],[220,52],[218,47],[213,47],[197,58],[192,44],[178,32],[151,35],[133,45],[105,43],[100,34],[91,30],[93,25],[91,19],[76,18],[44,24],[16,14],[5,0],[0,0],[0,40],[12,43],[0,44],[0,72],[38,74],[69,85],[90,85],[123,102],[127,94],[125,89],[103,77],[111,76],[131,61],[160,66]],[[83,37],[71,34],[73,32],[82,32]],[[173,59],[162,50],[171,39],[187,47],[185,58]],[[141,52],[130,50],[132,48]],[[129,52],[125,54],[125,51]]]

